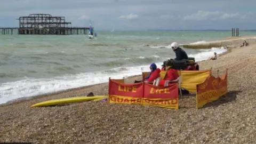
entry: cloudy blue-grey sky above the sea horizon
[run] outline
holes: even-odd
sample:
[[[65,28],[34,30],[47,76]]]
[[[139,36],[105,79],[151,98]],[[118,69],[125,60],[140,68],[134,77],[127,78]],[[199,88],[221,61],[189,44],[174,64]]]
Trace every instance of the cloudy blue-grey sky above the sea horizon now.
[[[256,29],[255,0],[0,0],[0,27],[33,13],[97,30]]]

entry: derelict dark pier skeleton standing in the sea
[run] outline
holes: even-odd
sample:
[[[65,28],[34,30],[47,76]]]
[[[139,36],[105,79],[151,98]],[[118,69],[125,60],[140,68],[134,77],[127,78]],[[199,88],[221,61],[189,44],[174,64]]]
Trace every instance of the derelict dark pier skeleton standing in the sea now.
[[[72,27],[71,22],[66,22],[65,17],[53,17],[50,14],[30,14],[17,20],[19,20],[19,27],[0,28],[2,34],[85,35],[89,30],[87,27]]]

